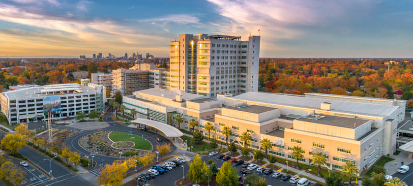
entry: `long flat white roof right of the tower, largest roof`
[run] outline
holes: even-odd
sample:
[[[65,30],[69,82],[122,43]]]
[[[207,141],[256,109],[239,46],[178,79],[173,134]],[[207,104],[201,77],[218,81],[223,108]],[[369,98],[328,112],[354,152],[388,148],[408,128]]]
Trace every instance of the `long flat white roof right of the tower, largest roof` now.
[[[321,109],[321,103],[330,102],[332,111],[349,113],[352,115],[374,115],[380,117],[387,117],[397,110],[398,106],[371,104],[371,103],[357,103],[351,101],[310,98],[303,96],[283,95],[275,93],[257,93],[248,92],[234,97],[225,97],[226,99],[236,99],[244,101],[254,101],[263,104],[286,105],[308,109]]]

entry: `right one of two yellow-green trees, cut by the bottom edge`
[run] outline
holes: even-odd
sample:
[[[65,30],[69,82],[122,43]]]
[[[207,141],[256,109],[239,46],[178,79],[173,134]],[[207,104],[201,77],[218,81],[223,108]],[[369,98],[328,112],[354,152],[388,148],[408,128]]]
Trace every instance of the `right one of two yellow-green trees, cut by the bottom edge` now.
[[[220,186],[238,186],[238,171],[227,161],[224,162],[216,175],[216,183]]]

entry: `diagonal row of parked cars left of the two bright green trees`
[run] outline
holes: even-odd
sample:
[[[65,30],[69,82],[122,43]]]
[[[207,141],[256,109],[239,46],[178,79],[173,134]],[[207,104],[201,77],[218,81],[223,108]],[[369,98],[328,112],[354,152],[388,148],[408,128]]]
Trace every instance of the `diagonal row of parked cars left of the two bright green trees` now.
[[[183,158],[178,157],[171,161],[165,162],[165,164],[152,166],[147,173],[135,177],[135,180],[138,181],[137,186],[147,186],[147,184],[144,183],[149,179],[156,178],[157,176],[164,174],[167,171],[171,171],[184,162],[185,160]]]

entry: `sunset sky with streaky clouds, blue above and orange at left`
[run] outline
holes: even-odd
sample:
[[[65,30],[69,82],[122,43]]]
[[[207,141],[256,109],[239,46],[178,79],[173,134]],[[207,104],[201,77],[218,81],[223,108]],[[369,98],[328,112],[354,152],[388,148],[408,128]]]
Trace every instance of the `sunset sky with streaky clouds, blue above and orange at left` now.
[[[0,57],[168,57],[183,33],[260,35],[260,57],[412,58],[413,1],[0,0]]]

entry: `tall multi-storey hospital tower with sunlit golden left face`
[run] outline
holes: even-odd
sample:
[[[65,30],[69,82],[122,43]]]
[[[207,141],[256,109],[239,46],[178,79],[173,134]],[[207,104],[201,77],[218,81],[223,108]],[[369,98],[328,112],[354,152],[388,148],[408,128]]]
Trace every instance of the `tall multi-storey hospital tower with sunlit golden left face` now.
[[[260,36],[180,34],[170,42],[170,89],[209,97],[258,92]]]

